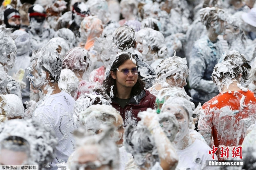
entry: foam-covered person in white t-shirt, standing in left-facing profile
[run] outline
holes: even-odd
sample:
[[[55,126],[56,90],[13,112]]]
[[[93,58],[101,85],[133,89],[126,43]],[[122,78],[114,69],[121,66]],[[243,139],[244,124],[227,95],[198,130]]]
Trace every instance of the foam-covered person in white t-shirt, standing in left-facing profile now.
[[[27,78],[44,94],[37,103],[34,118],[54,130],[59,141],[52,169],[57,169],[56,163],[67,161],[74,146],[72,110],[75,100],[58,86],[61,69],[62,60],[54,48],[42,47],[32,51]]]

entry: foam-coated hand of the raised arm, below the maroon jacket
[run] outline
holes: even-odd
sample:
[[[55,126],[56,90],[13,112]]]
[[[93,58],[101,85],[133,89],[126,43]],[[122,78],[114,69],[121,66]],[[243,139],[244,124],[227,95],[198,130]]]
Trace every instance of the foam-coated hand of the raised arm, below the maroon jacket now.
[[[147,111],[140,112],[138,117],[141,119],[140,123],[148,127],[150,131],[156,127],[160,127],[156,110],[148,108]]]

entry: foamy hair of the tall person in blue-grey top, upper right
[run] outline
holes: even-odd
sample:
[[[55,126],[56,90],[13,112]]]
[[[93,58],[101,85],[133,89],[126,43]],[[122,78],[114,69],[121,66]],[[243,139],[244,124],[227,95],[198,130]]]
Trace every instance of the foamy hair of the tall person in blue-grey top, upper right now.
[[[206,26],[207,29],[211,27],[211,22],[218,20],[224,21],[224,13],[224,10],[215,7],[206,7],[199,11],[201,22]]]

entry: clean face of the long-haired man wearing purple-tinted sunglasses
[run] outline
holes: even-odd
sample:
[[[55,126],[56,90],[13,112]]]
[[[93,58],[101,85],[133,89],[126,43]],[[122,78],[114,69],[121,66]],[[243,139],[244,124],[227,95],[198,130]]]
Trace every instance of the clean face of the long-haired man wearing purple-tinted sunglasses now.
[[[117,88],[132,88],[138,81],[138,74],[133,75],[132,69],[136,68],[136,64],[132,60],[126,60],[122,65],[118,67],[115,75],[111,75],[112,78],[116,79]],[[124,75],[124,71],[128,69],[129,73]]]

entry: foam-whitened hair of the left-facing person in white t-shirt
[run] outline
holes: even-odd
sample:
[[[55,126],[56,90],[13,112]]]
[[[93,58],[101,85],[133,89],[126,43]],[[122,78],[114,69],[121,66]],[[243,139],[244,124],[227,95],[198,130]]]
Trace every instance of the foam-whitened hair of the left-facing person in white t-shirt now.
[[[49,73],[53,82],[58,82],[62,69],[62,60],[56,49],[44,46],[32,51],[32,60],[36,60],[36,70],[42,76],[42,70]]]

